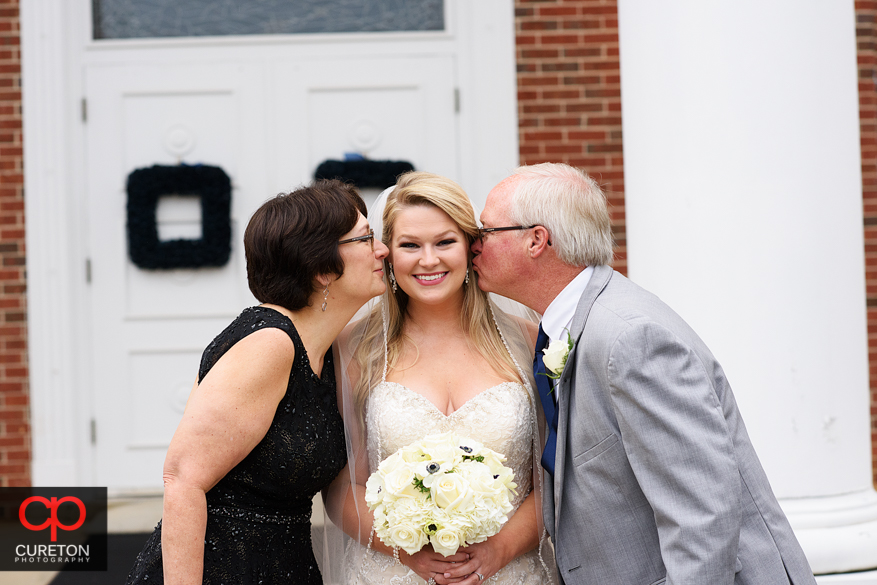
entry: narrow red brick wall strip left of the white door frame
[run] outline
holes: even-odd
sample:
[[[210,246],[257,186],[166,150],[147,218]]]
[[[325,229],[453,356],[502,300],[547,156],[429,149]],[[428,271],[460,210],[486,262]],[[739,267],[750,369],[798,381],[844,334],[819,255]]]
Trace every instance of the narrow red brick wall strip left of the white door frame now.
[[[30,485],[19,0],[0,0],[0,486]]]

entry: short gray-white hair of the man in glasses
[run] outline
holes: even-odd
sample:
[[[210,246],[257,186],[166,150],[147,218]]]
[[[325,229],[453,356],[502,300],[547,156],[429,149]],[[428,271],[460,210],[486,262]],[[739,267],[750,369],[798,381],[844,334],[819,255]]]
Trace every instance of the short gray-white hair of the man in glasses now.
[[[606,195],[584,171],[563,163],[518,167],[511,219],[548,230],[557,257],[571,266],[612,263]]]

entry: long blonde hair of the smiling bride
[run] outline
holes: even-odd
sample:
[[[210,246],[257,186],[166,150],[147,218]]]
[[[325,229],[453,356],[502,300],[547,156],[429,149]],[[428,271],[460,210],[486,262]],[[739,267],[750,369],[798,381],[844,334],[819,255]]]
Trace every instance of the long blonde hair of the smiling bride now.
[[[383,234],[381,240],[387,246],[393,239],[393,228],[399,214],[405,209],[418,205],[428,205],[444,211],[466,236],[467,248],[479,236],[475,221],[475,210],[465,191],[454,181],[431,173],[411,171],[399,177],[396,187],[387,196],[384,206]],[[385,274],[387,260],[385,262]],[[477,275],[472,270],[472,255],[469,254],[469,284],[463,285],[463,307],[460,312],[460,325],[463,333],[475,349],[487,360],[498,374],[508,380],[523,382],[515,363],[506,349],[502,336],[497,330],[494,315],[487,293],[478,288]],[[353,355],[360,370],[358,382],[354,387],[355,404],[358,412],[368,393],[382,379],[384,372],[384,344],[378,343],[384,334],[386,311],[387,367],[394,368],[402,353],[405,340],[404,325],[408,295],[400,288],[393,292],[389,287],[384,293],[383,302],[375,306],[367,319],[363,319],[354,331],[354,338],[361,341]],[[380,366],[378,366],[380,364]]]

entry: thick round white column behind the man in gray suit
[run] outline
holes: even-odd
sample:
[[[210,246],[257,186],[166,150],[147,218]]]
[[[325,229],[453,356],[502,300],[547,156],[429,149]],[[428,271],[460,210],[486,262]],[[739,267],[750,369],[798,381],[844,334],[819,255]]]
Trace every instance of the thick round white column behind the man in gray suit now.
[[[875,569],[853,2],[620,0],[619,28],[630,277],[724,366],[814,572]]]

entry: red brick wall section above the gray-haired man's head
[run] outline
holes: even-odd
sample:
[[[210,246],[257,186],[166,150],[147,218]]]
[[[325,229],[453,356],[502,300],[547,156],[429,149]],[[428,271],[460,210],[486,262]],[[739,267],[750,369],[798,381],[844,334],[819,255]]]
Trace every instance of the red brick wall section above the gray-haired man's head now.
[[[616,0],[515,0],[521,164],[584,169],[612,206],[627,272]]]

